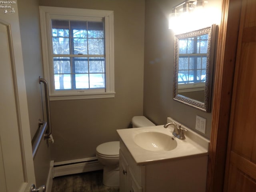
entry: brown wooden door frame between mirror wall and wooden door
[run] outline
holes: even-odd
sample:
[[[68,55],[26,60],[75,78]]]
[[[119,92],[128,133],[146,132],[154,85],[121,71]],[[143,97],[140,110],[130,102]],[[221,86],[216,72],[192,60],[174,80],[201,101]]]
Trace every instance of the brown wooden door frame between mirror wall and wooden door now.
[[[221,192],[224,186],[241,4],[242,0],[222,0],[222,20],[215,62],[207,192]]]

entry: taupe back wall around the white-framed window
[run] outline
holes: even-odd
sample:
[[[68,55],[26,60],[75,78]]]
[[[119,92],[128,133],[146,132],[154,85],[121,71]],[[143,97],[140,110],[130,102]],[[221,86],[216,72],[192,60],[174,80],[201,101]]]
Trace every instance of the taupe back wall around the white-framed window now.
[[[40,0],[41,6],[114,11],[115,98],[50,102],[56,162],[95,156],[143,112],[144,0]]]

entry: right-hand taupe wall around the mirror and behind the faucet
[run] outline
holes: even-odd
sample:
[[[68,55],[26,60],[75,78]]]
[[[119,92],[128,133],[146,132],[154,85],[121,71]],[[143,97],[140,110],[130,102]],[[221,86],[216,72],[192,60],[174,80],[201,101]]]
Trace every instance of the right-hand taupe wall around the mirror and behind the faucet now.
[[[210,138],[212,114],[194,109],[172,99],[174,34],[168,29],[168,14],[179,0],[146,0],[144,115],[156,124],[164,124],[171,116],[195,129],[196,115],[206,118],[206,136]],[[221,0],[208,0],[221,9]],[[189,19],[189,18],[188,18]]]

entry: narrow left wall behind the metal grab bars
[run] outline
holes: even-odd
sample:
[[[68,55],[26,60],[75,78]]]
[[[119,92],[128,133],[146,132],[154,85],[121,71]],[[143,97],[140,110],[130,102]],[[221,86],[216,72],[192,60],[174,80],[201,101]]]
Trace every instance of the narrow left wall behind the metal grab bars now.
[[[28,98],[30,130],[31,138],[33,138],[38,129],[38,120],[44,119],[41,102],[41,90],[38,80],[39,76],[43,77],[38,9],[39,1],[22,0],[18,1],[17,3],[26,80],[26,92]],[[44,87],[42,86],[42,88]],[[46,141],[43,140],[34,159],[36,186],[46,184],[49,167],[50,149],[48,148]]]

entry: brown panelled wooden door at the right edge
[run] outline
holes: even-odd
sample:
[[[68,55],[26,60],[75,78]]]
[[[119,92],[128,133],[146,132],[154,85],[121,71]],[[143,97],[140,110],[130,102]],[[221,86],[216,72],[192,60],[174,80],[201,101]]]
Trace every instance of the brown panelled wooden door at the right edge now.
[[[256,191],[256,0],[242,0],[224,191]]]

